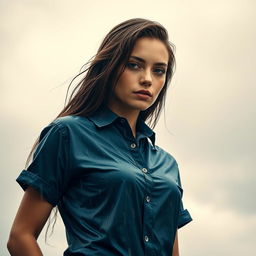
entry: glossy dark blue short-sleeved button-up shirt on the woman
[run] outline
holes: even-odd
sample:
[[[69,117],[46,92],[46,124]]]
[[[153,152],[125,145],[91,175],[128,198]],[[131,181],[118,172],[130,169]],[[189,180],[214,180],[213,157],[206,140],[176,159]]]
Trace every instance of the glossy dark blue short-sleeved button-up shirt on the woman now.
[[[66,116],[46,126],[17,182],[58,206],[65,256],[171,256],[176,230],[191,216],[182,203],[178,165],[155,133],[110,109]]]

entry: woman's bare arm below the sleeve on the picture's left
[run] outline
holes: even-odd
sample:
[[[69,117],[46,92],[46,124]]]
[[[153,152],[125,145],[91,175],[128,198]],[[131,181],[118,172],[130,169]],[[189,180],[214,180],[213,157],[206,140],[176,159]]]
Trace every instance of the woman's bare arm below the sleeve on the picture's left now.
[[[7,243],[12,256],[43,255],[36,240],[52,208],[35,189],[26,189]]]

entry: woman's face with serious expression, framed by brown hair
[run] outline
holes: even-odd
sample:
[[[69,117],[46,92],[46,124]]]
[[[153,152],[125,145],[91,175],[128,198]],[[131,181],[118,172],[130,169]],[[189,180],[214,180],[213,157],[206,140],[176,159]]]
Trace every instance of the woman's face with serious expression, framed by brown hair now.
[[[164,86],[168,59],[168,51],[162,41],[138,39],[115,86],[109,107],[116,113],[139,113],[149,108]]]

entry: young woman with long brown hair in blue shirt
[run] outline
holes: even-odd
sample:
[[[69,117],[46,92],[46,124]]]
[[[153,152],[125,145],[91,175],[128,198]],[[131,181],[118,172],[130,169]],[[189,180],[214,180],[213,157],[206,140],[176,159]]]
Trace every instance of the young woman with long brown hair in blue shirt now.
[[[175,58],[167,31],[131,19],[103,40],[58,117],[45,127],[17,182],[25,190],[11,255],[37,256],[53,207],[66,228],[65,256],[177,256],[184,210],[175,159],[155,145]]]

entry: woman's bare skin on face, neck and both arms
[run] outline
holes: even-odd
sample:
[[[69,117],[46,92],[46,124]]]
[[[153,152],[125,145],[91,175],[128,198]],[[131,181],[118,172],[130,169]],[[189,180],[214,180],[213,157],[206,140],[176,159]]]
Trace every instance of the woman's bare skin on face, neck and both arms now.
[[[140,111],[155,102],[164,86],[168,58],[167,49],[160,40],[139,39],[115,87],[114,95],[109,100],[109,108],[128,120],[134,137]],[[152,96],[141,98],[135,94],[139,90],[148,90]],[[12,256],[43,255],[36,240],[52,208],[33,188],[29,187],[25,191],[7,244]],[[179,256],[177,234],[173,256]]]

